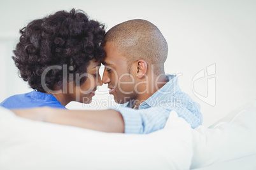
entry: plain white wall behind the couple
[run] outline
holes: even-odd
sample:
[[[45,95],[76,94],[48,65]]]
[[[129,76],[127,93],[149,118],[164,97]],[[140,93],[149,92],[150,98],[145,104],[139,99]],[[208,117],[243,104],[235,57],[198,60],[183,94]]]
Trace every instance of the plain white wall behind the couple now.
[[[84,10],[92,19],[106,23],[108,29],[134,18],[157,25],[169,44],[166,72],[182,74],[180,86],[201,104],[206,126],[256,98],[256,1],[1,0],[0,101],[31,91],[18,77],[11,60],[18,29],[36,18],[71,8]],[[211,70],[213,75],[194,81],[193,93],[193,78],[207,67],[208,74]],[[212,79],[207,88],[209,77]],[[99,88],[94,98],[92,105],[73,102],[68,108],[95,109],[113,104],[113,101],[106,103],[109,99],[106,86]],[[103,103],[96,103],[97,100]]]

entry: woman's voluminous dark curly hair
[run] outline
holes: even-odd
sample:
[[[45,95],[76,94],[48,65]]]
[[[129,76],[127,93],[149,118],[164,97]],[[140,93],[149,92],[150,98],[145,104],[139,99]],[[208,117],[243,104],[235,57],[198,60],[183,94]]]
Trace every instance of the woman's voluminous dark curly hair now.
[[[53,89],[62,87],[65,80],[75,81],[76,86],[85,82],[86,77],[76,81],[69,74],[84,74],[90,60],[102,60],[104,56],[101,42],[104,39],[104,25],[81,10],[70,12],[57,11],[45,18],[33,20],[20,30],[19,42],[13,51],[13,60],[20,77],[29,83],[32,89],[46,93],[41,83],[44,70],[53,65],[62,69],[50,69],[45,77],[45,86]],[[63,77],[63,65],[67,68],[67,77]]]

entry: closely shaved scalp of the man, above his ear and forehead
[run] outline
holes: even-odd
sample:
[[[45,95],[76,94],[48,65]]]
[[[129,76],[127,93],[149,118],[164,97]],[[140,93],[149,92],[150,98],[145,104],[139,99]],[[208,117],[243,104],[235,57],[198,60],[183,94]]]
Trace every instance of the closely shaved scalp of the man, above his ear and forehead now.
[[[153,23],[146,20],[120,23],[108,30],[104,41],[112,42],[129,64],[143,59],[154,66],[155,74],[164,73],[168,46],[166,39]]]

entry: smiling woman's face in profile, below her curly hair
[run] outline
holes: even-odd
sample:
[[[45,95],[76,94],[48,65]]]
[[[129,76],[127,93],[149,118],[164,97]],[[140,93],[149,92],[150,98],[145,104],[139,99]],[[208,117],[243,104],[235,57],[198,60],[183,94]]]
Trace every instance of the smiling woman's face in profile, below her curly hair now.
[[[80,75],[80,77],[87,77],[85,82],[83,82],[81,86],[75,86],[75,81],[69,82],[68,89],[70,90],[69,97],[71,97],[71,101],[78,101],[80,103],[92,102],[92,96],[95,95],[97,86],[103,84],[101,76],[99,75],[99,67],[101,67],[101,62],[90,60],[90,64],[87,67],[87,73]],[[70,86],[73,86],[73,91],[71,91],[72,88]]]

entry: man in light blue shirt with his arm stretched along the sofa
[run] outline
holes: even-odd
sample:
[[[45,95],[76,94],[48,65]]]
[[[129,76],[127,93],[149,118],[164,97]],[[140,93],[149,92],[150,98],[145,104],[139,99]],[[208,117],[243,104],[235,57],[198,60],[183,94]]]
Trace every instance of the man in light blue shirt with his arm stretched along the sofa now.
[[[108,83],[110,94],[121,107],[14,112],[37,121],[116,133],[151,133],[162,129],[172,110],[192,128],[202,124],[199,104],[181,91],[176,75],[164,72],[168,46],[155,25],[146,20],[120,23],[106,33],[103,46],[103,82]]]

